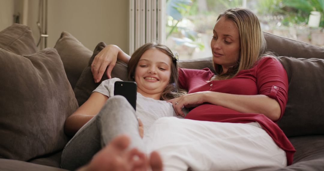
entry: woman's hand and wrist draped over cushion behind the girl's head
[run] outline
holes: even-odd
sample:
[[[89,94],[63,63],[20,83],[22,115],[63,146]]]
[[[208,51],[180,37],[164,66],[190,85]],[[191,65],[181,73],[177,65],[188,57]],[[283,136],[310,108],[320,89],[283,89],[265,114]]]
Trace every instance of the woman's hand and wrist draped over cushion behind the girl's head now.
[[[128,64],[131,57],[116,45],[107,45],[101,50],[91,63],[91,72],[96,83],[98,83],[107,69],[107,76],[111,78],[111,71],[114,68],[117,59]],[[96,66],[95,66],[96,65]],[[108,66],[108,68],[107,68]]]

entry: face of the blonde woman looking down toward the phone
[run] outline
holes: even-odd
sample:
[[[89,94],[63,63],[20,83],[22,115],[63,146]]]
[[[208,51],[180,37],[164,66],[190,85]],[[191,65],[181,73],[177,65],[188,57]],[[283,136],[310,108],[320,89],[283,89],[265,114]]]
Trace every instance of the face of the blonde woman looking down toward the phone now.
[[[221,17],[213,30],[211,48],[213,62],[222,65],[223,73],[235,66],[240,55],[240,37],[233,21]]]

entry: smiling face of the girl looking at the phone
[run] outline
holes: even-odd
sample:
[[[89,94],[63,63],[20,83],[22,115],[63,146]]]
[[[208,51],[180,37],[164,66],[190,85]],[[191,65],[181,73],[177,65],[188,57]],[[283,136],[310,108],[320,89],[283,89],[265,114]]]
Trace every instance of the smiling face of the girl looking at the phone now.
[[[145,97],[160,99],[165,87],[170,82],[171,58],[155,48],[143,53],[137,63],[134,80],[137,92]]]

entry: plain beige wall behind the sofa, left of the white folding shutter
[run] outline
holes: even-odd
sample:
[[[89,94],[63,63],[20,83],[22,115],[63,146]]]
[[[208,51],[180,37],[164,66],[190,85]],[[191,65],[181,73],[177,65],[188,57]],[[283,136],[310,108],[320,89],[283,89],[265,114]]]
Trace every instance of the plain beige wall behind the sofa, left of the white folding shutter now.
[[[18,2],[14,5],[14,1]],[[28,4],[26,22],[37,43],[38,0],[0,0],[0,27],[6,28],[13,23],[14,6],[22,10],[24,2]],[[47,46],[54,47],[61,32],[67,31],[91,51],[103,41],[116,44],[128,53],[128,10],[129,0],[48,0]]]

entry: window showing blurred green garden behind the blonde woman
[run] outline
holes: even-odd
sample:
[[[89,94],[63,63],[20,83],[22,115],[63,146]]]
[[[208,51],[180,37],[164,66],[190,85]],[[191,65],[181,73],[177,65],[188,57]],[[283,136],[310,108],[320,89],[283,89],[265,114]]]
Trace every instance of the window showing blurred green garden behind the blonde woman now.
[[[324,47],[324,1],[307,0],[167,0],[166,45],[180,59],[212,56],[210,41],[219,13],[244,6],[263,31]]]

